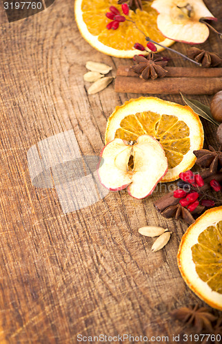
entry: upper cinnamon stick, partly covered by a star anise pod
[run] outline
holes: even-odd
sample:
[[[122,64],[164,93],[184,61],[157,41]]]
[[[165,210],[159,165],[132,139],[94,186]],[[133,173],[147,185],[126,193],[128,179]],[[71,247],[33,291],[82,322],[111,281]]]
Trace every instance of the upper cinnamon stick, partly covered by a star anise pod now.
[[[164,67],[168,71],[165,78],[219,78],[222,77],[222,68],[199,68],[199,67]],[[130,67],[120,65],[117,69],[117,76],[139,77]]]

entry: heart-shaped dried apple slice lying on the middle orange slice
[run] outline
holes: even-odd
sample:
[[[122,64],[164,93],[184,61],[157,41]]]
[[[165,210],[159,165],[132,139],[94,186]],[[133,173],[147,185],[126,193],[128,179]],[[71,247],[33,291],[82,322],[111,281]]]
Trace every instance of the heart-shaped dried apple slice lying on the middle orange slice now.
[[[130,143],[115,138],[101,151],[98,169],[106,189],[119,191],[128,187],[128,193],[137,199],[151,195],[167,171],[163,147],[149,135]]]

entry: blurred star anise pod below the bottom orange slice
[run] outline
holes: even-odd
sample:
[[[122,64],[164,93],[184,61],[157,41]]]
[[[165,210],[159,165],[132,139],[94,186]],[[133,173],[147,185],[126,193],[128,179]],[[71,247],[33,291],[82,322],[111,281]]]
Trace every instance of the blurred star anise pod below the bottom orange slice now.
[[[216,316],[208,308],[199,308],[199,305],[195,305],[194,308],[179,308],[178,310],[172,311],[171,315],[174,319],[178,319],[186,325],[194,326],[197,333],[201,333],[203,329],[212,332],[212,322],[216,320]]]

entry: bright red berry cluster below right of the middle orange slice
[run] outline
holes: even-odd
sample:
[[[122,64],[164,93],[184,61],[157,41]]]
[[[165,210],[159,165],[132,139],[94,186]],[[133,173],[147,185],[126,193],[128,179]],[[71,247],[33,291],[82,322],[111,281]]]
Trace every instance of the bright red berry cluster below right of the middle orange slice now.
[[[214,206],[213,200],[206,200],[201,198],[201,188],[204,186],[204,180],[199,173],[192,173],[192,171],[186,171],[180,173],[181,180],[178,182],[179,189],[174,191],[175,198],[181,198],[179,203],[181,206],[187,207],[189,211],[194,211],[199,204],[201,206]],[[221,191],[221,185],[215,179],[210,181],[210,186],[216,192]]]

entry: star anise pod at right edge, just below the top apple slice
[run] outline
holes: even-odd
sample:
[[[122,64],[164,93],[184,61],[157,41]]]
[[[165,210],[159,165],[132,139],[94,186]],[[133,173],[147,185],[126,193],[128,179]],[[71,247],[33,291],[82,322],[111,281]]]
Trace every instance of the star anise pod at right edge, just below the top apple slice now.
[[[198,47],[190,47],[187,54],[194,61],[201,63],[202,67],[216,67],[222,62],[222,58],[216,52],[208,52]]]

